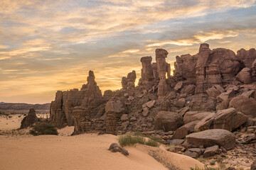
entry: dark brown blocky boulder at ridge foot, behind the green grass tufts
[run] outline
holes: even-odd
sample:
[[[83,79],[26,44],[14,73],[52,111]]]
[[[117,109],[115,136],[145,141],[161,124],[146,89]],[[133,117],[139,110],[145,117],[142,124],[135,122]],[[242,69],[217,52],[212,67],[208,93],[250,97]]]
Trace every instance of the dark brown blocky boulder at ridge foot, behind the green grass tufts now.
[[[174,131],[183,125],[183,118],[178,113],[160,111],[156,115],[155,130]]]

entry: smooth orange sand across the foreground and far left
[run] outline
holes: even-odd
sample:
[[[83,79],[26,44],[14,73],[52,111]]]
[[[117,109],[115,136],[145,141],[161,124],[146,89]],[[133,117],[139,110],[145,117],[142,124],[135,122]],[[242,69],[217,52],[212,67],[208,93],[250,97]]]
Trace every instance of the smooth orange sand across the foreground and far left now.
[[[0,118],[1,130],[6,129],[2,126],[6,118],[2,119]],[[9,121],[14,124],[18,122]],[[125,147],[129,152],[128,157],[112,153],[108,148],[112,142],[117,142],[117,136],[114,135],[69,136],[73,127],[63,128],[58,132],[58,136],[0,135],[0,169],[167,169],[149,155],[151,152],[156,153],[158,159],[181,169],[196,165],[203,168],[203,164],[196,159],[166,152],[161,147]]]

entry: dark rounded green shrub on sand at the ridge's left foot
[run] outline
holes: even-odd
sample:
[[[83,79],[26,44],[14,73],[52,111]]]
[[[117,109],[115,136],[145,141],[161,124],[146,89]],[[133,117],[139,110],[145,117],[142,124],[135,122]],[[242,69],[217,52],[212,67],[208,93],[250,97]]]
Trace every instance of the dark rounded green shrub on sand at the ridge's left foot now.
[[[40,123],[29,131],[31,135],[58,135],[57,129],[50,123]]]

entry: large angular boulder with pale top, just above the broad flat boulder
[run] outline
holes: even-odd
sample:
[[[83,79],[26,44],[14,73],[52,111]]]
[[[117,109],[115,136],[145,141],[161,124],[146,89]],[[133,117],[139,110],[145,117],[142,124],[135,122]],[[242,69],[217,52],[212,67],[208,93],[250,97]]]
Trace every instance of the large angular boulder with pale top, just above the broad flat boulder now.
[[[228,108],[217,112],[213,120],[214,129],[235,130],[248,120],[247,115],[237,112],[235,108]]]

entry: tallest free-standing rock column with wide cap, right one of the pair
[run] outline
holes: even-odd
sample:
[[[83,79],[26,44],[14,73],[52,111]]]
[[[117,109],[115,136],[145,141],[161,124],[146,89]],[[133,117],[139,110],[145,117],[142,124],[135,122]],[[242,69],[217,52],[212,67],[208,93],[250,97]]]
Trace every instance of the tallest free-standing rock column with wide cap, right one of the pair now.
[[[171,67],[166,62],[166,57],[168,52],[164,49],[156,49],[156,66],[157,71],[159,72],[159,85],[158,85],[158,95],[159,97],[165,96],[166,92],[169,91],[170,87],[166,82],[166,73],[168,74],[167,77],[170,77]],[[170,67],[168,69],[168,67]]]

